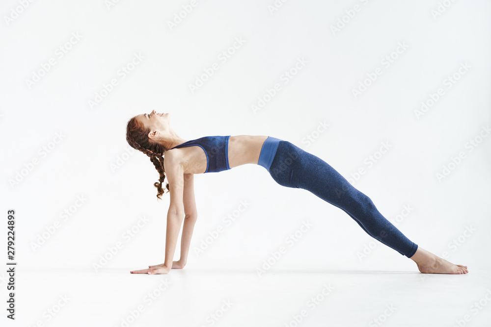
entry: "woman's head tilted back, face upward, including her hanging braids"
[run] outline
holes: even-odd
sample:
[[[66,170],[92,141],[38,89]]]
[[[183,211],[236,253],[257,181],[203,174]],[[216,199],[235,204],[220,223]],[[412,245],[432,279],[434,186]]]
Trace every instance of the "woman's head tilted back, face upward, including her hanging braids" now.
[[[158,114],[152,111],[150,114],[141,114],[130,119],[126,125],[126,141],[128,144],[150,157],[150,161],[160,174],[158,182],[154,186],[158,190],[157,198],[162,199],[164,194],[162,183],[165,179],[164,154],[168,150],[168,134],[172,131],[169,125],[169,114]],[[169,184],[165,185],[167,192]]]

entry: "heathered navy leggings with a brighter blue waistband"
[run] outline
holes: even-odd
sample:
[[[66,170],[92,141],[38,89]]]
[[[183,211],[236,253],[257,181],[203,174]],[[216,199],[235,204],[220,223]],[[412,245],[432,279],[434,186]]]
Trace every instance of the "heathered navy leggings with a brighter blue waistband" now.
[[[418,245],[410,241],[377,210],[372,200],[321,158],[294,144],[268,136],[258,165],[286,187],[302,188],[341,208],[368,235],[402,255],[411,257]]]

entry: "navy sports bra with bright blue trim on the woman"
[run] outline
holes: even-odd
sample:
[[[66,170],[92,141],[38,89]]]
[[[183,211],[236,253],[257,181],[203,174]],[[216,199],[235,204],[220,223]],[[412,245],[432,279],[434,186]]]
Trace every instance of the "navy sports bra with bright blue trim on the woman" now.
[[[206,171],[205,173],[218,173],[229,170],[228,165],[228,136],[205,136],[199,139],[186,141],[175,146],[175,148],[185,148],[197,145],[205,151]],[[172,150],[169,149],[169,150]]]

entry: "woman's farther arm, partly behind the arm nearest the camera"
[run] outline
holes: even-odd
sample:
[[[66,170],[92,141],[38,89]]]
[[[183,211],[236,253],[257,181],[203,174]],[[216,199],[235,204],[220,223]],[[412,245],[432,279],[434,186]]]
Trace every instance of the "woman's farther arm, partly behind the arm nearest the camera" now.
[[[196,200],[194,199],[194,175],[184,175],[184,226],[181,236],[181,258],[175,264],[175,268],[184,268],[188,262],[188,252],[191,246],[191,236],[194,229],[194,224],[198,218],[198,212],[196,210]],[[173,266],[174,268],[174,266]]]

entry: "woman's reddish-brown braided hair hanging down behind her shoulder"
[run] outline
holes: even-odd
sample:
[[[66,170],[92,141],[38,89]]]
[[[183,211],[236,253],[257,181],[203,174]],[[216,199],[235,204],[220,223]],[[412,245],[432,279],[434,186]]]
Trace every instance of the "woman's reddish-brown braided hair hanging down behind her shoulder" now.
[[[163,154],[167,149],[165,149],[162,144],[152,141],[148,137],[150,131],[150,128],[145,127],[136,120],[136,117],[133,117],[126,125],[126,141],[132,148],[139,150],[150,157],[150,161],[152,161],[160,174],[159,181],[155,182],[154,186],[157,187],[158,190],[157,198],[162,200],[161,195],[164,194],[162,183],[165,179]],[[167,188],[167,193],[169,193],[169,183],[166,183],[165,187]]]

